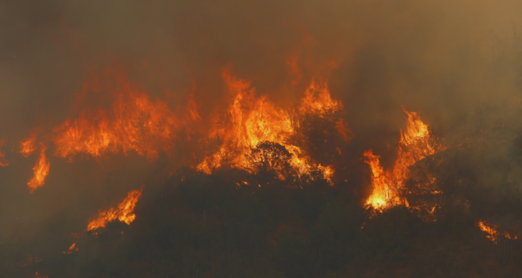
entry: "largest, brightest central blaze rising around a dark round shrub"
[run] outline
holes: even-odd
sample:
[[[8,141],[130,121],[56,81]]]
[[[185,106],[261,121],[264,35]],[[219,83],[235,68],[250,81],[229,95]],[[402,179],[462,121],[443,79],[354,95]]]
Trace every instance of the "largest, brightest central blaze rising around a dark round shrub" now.
[[[312,81],[299,107],[285,110],[275,106],[265,96],[257,97],[250,81],[235,78],[228,69],[223,70],[222,75],[232,99],[228,108],[214,113],[207,144],[215,143],[219,147],[205,155],[197,170],[210,174],[223,164],[251,170],[248,153],[256,149],[260,142],[272,142],[290,153],[290,165],[299,174],[307,174],[312,168],[317,168],[322,170],[326,179],[331,177],[333,167],[314,163],[301,147],[290,140],[299,132],[300,119],[306,115],[333,118],[338,136],[345,142],[351,138],[351,131],[342,119],[332,116],[342,111],[342,104],[331,99],[326,83]]]

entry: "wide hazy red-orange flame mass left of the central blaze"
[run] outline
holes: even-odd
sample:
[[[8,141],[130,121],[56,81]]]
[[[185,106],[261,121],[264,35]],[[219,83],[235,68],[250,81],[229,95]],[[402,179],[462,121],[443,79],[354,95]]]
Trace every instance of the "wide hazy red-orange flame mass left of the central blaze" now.
[[[189,115],[180,119],[165,101],[152,101],[122,70],[91,75],[77,95],[71,116],[54,129],[56,156],[72,161],[77,154],[100,157],[121,150],[154,161],[159,152],[173,148],[183,124],[198,120],[192,99]],[[86,99],[97,105],[89,107]]]

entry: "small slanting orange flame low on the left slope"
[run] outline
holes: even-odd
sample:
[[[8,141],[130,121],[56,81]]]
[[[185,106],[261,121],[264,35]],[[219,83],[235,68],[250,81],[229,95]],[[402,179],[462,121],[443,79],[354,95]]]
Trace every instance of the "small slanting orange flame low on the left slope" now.
[[[141,198],[142,190],[143,186],[141,186],[139,190],[132,190],[127,194],[127,197],[120,204],[118,204],[118,207],[109,208],[107,211],[100,211],[97,217],[94,220],[91,220],[88,224],[87,231],[103,228],[107,223],[114,220],[120,220],[120,222],[130,224],[132,221],[134,221],[134,219],[136,219],[134,208],[136,207],[136,203]]]

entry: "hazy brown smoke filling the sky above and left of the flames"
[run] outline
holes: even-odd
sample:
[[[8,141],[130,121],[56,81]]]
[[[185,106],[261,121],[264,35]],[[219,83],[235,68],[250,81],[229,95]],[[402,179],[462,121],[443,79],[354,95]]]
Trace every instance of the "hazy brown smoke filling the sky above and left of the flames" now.
[[[93,67],[125,65],[173,110],[194,91],[205,118],[228,100],[223,67],[278,104],[299,97],[295,58],[344,104],[351,159],[373,148],[386,161],[402,105],[450,133],[477,106],[520,103],[521,15],[514,0],[1,1],[0,140],[10,165],[0,168],[0,242],[37,238],[37,227],[83,229],[97,209],[161,179],[161,166],[132,154],[50,158],[46,186],[29,194],[36,156],[17,154],[20,140],[63,122]]]

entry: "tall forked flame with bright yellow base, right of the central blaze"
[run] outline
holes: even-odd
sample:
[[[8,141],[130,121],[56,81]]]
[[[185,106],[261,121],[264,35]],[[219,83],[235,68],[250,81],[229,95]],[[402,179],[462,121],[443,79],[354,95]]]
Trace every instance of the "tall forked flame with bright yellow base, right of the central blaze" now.
[[[404,193],[404,181],[409,177],[408,167],[418,161],[431,156],[445,149],[429,131],[427,124],[420,120],[420,116],[415,112],[408,112],[402,107],[406,113],[406,131],[400,130],[401,138],[399,146],[396,149],[397,159],[392,170],[383,170],[379,163],[380,156],[374,155],[372,149],[368,149],[363,153],[365,163],[370,165],[372,169],[372,194],[368,197],[366,204],[375,209],[383,210],[394,204],[402,204],[409,206]],[[427,184],[418,184],[418,188],[436,187],[436,179],[427,177]],[[441,194],[440,190],[432,190],[435,194]],[[434,212],[434,208],[428,208],[429,213]]]

